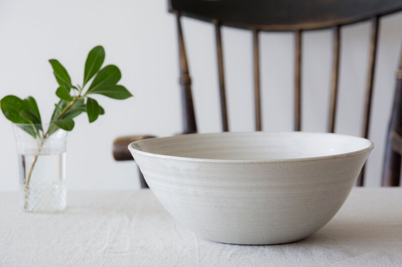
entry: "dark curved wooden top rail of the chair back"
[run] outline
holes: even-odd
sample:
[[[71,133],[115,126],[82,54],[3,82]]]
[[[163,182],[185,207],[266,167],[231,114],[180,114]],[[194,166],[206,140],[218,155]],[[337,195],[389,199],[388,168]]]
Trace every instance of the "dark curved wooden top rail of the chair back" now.
[[[317,30],[402,10],[400,0],[169,0],[169,11],[260,31]]]

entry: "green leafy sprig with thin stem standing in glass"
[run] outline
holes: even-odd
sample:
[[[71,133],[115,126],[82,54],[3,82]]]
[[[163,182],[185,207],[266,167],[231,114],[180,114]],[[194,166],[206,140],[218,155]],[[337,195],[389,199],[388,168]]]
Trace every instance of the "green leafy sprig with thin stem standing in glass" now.
[[[116,66],[107,65],[101,68],[104,60],[105,50],[102,46],[96,46],[89,52],[85,62],[82,86],[71,83],[68,72],[58,60],[49,60],[59,85],[56,89],[56,95],[60,100],[55,104],[50,126],[46,131],[42,125],[41,114],[36,100],[32,96],[21,99],[15,95],[7,95],[0,100],[0,107],[6,118],[19,124],[18,126],[22,130],[37,139],[38,154],[46,138],[58,129],[71,131],[74,128],[73,119],[78,115],[84,112],[87,113],[88,120],[92,123],[100,115],[105,114],[102,106],[99,105],[97,100],[89,97],[90,95],[101,94],[114,99],[126,99],[132,96],[123,85],[117,84],[122,78],[122,74]],[[91,80],[91,84],[86,86]],[[88,88],[86,89],[86,87]],[[25,180],[26,192],[38,154],[34,156]]]

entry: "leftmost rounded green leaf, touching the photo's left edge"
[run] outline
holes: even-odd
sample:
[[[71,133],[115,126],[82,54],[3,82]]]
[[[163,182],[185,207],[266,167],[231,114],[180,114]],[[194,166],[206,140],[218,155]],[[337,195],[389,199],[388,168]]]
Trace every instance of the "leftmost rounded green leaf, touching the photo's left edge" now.
[[[13,123],[29,123],[28,120],[20,116],[22,110],[27,109],[27,104],[15,95],[7,95],[0,100],[0,106],[4,116]]]

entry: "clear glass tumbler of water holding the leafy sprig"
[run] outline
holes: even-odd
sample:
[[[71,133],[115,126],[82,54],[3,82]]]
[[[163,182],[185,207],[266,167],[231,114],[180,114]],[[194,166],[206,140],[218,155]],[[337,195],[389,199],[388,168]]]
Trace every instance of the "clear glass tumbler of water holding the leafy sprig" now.
[[[22,208],[29,212],[65,209],[67,132],[53,124],[14,124],[13,128]]]

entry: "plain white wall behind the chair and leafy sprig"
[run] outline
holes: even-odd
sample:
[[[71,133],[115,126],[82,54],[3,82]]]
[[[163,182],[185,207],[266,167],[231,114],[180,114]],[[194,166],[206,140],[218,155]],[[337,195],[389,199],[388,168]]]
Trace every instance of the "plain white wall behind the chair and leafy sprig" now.
[[[124,84],[135,95],[124,101],[97,97],[106,115],[89,124],[82,115],[67,146],[69,189],[139,187],[133,162],[117,163],[111,144],[118,135],[167,136],[181,131],[175,19],[166,0],[87,0],[0,2],[0,97],[33,95],[49,118],[57,87],[48,59],[56,58],[80,83],[87,52],[106,49],[106,63],[122,70]],[[394,73],[402,37],[402,14],[381,20],[370,139],[376,148],[368,163],[368,186],[379,186],[385,132],[391,110]],[[200,132],[220,131],[214,29],[184,19],[184,34],[193,78]],[[338,133],[359,135],[368,58],[369,24],[342,30]],[[262,33],[261,85],[263,129],[292,130],[293,35]],[[252,36],[223,29],[229,127],[253,130]],[[230,46],[229,43],[235,43]],[[325,131],[330,88],[331,32],[303,34],[303,130]],[[211,98],[211,95],[214,97]],[[208,104],[208,109],[200,108]],[[16,146],[11,123],[0,116],[0,190],[18,188]]]

